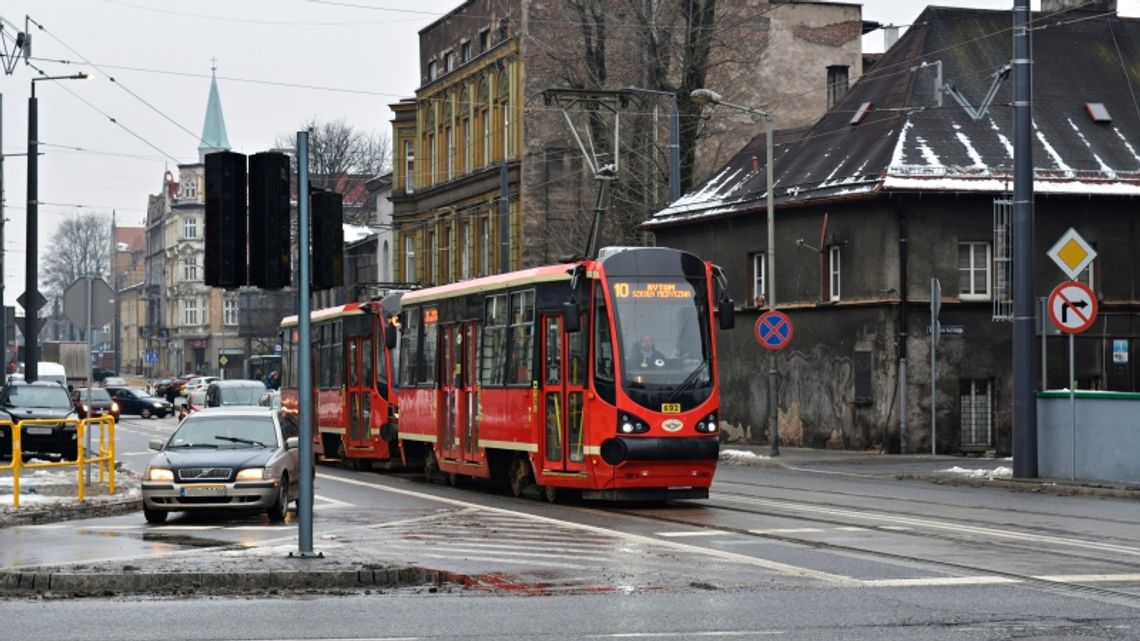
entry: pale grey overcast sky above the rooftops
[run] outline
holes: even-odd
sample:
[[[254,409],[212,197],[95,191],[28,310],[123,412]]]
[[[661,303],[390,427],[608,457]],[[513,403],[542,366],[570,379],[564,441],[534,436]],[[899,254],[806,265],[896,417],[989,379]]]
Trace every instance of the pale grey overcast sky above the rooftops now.
[[[1009,9],[1011,0],[947,0],[944,6]],[[211,60],[230,145],[269,148],[310,116],[345,117],[388,131],[388,105],[414,95],[417,32],[459,0],[24,0],[0,8],[3,31],[33,24],[33,64],[50,75],[39,98],[40,257],[60,221],[87,211],[116,212],[121,226],[145,224],[147,195],[165,170],[197,160]],[[868,0],[864,19],[906,25],[919,0]],[[1039,2],[1034,1],[1036,9]],[[1140,0],[1121,0],[1140,15]],[[6,42],[11,51],[10,40]],[[882,50],[882,34],[864,38]],[[27,151],[27,97],[38,73],[17,64],[0,80],[3,153]],[[115,81],[111,81],[113,76]],[[112,122],[111,119],[114,119]],[[5,162],[6,305],[24,291],[26,160]],[[17,314],[23,314],[18,310]]]

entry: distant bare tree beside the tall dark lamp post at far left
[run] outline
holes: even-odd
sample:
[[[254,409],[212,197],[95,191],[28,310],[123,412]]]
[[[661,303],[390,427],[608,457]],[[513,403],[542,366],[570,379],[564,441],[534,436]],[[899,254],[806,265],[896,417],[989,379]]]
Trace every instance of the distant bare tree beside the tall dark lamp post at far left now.
[[[51,236],[51,249],[43,257],[40,283],[48,299],[60,299],[64,291],[83,276],[105,278],[111,260],[111,217],[84,213],[59,224]]]

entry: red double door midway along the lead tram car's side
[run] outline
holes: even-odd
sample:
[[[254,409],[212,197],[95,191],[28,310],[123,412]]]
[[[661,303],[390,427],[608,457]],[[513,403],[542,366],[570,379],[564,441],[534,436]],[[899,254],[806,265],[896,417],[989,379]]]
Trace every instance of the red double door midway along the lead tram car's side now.
[[[475,324],[446,325],[440,328],[442,350],[442,459],[473,461],[479,435],[475,428]]]

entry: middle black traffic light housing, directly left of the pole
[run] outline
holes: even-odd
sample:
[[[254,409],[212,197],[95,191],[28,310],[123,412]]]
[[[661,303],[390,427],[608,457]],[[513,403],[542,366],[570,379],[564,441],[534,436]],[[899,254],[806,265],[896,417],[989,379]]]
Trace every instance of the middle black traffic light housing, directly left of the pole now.
[[[290,284],[290,162],[278,152],[250,156],[250,284]]]

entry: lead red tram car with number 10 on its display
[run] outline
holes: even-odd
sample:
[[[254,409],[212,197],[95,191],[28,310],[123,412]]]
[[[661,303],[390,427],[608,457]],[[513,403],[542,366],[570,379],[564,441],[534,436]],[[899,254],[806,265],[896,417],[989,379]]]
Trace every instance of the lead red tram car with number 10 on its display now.
[[[551,501],[708,497],[724,285],[693,254],[612,248],[404,294],[405,460]]]

